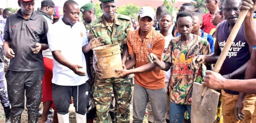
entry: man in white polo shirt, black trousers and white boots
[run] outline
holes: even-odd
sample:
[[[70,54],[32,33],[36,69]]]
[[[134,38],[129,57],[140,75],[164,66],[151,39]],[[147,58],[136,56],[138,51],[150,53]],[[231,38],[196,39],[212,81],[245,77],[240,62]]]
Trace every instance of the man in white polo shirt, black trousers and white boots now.
[[[73,0],[65,2],[64,16],[47,34],[53,55],[52,96],[58,110],[59,123],[69,123],[71,96],[76,109],[76,122],[86,122],[88,82],[86,60],[83,52],[89,52],[86,29],[79,18],[80,8]],[[98,38],[102,40],[102,38]],[[97,40],[97,41],[98,41]],[[96,40],[91,40],[94,42]],[[91,44],[90,42],[90,44]]]

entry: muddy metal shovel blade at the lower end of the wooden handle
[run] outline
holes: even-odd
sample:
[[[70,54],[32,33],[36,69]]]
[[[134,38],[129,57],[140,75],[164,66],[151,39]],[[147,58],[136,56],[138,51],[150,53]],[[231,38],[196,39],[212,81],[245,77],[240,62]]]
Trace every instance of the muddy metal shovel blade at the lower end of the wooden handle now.
[[[193,84],[191,123],[213,123],[217,111],[220,93],[208,88],[204,96],[204,86]]]

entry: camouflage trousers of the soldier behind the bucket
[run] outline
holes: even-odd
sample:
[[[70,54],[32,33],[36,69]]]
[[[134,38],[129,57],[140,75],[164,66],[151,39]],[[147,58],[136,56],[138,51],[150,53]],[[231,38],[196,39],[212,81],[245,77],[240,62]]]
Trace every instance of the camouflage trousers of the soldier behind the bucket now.
[[[97,76],[97,75],[96,75]],[[94,101],[96,105],[97,123],[112,123],[109,115],[109,107],[112,100],[112,92],[115,96],[115,123],[130,122],[130,102],[132,97],[129,77],[108,78],[99,80],[96,77],[94,83]]]

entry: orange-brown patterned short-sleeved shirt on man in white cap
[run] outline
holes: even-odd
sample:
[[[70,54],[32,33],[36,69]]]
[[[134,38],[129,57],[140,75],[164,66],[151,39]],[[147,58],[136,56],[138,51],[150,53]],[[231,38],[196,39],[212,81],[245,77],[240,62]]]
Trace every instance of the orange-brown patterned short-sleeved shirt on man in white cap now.
[[[127,37],[129,54],[135,54],[136,56],[135,67],[148,64],[147,57],[150,53],[154,53],[162,60],[165,37],[152,28],[142,42],[139,36],[139,30],[133,31]],[[164,72],[156,66],[150,72],[136,73],[134,82],[144,88],[161,89],[165,87]]]

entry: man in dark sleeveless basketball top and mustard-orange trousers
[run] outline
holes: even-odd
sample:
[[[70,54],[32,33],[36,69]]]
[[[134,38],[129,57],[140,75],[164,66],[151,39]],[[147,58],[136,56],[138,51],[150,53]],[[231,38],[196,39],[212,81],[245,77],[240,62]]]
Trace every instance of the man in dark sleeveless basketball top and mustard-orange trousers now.
[[[193,59],[192,67],[197,67],[198,64],[216,63],[221,51],[233,29],[238,16],[240,15],[239,4],[241,0],[223,0],[223,13],[227,19],[220,23],[216,28],[216,42],[214,47],[214,53],[211,55],[197,56]],[[232,47],[223,63],[220,73],[224,78],[228,79],[244,79],[245,69],[249,63],[251,56],[251,46],[248,45],[244,37],[244,25],[240,28]],[[255,95],[246,95],[231,90],[222,90],[222,111],[224,123],[250,123],[251,114],[254,111],[254,102],[256,100]],[[244,101],[245,100],[245,101]],[[233,102],[236,102],[233,103]],[[245,103],[244,103],[245,102]],[[234,113],[243,109],[245,119],[243,121],[237,121]]]

